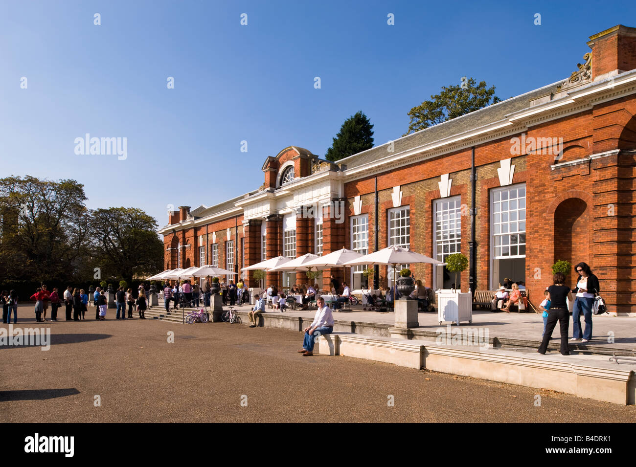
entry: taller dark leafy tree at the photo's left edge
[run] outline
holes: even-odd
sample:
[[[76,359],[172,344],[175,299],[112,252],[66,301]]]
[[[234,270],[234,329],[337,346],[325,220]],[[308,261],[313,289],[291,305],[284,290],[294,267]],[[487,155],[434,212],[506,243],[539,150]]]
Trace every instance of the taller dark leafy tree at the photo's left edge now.
[[[85,278],[88,212],[75,180],[0,179],[0,276],[4,280]]]

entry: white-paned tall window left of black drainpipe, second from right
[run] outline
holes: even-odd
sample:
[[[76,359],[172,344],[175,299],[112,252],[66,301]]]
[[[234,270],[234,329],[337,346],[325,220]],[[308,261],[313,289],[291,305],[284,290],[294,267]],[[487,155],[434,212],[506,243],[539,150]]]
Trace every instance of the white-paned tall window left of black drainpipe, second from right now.
[[[435,201],[435,255],[439,261],[459,253],[462,240],[460,196]]]

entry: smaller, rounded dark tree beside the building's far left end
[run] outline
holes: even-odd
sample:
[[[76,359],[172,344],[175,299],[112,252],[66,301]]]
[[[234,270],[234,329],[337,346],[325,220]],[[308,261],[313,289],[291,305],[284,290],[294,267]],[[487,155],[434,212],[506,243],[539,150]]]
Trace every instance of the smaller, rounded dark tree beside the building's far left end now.
[[[155,218],[138,208],[93,211],[90,232],[99,247],[102,271],[130,283],[135,274],[161,269],[163,242],[156,228]]]

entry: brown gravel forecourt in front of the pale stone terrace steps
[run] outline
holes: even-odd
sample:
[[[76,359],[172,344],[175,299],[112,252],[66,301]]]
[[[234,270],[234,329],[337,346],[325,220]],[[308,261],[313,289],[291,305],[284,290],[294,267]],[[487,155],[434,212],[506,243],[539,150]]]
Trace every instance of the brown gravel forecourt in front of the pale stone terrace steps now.
[[[554,391],[346,356],[303,357],[296,353],[302,335],[287,330],[139,319],[37,324],[51,328],[49,351],[0,348],[2,422],[300,422],[315,418],[576,423],[581,414],[585,422],[633,422],[636,418],[634,406]],[[34,327],[36,323],[29,316],[18,325]],[[167,342],[169,332],[174,332],[174,343]],[[534,405],[537,394],[541,407]],[[100,407],[93,402],[97,395]],[[389,396],[393,396],[392,407]],[[241,405],[245,400],[247,405]]]

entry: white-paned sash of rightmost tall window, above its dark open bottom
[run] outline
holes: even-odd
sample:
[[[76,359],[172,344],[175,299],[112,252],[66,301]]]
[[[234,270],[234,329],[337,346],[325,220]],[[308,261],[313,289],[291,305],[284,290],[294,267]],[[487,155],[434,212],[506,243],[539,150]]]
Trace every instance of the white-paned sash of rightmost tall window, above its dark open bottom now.
[[[492,236],[495,259],[525,257],[525,186],[493,190]]]

